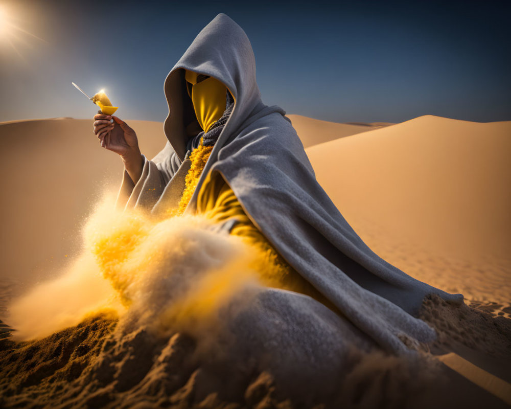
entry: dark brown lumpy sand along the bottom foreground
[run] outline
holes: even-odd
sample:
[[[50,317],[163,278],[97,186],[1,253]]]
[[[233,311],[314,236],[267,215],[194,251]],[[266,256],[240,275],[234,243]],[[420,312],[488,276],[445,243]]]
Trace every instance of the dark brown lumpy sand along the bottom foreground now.
[[[509,320],[501,318],[502,328],[496,329],[492,317],[463,307],[453,311],[441,300],[426,302],[424,314],[440,333],[434,347],[460,343],[470,330],[459,328],[458,318],[468,313],[473,316],[467,324],[479,329],[463,343],[482,344],[487,358],[507,359],[511,329],[504,321]],[[456,320],[440,317],[446,312]],[[477,324],[481,319],[484,328]],[[202,353],[190,336],[161,338],[146,327],[123,331],[102,315],[33,342],[5,339],[0,364],[2,407],[507,407],[430,355],[399,358],[356,349],[334,393],[297,400],[299,391],[283,388],[270,373],[246,362],[225,365]]]

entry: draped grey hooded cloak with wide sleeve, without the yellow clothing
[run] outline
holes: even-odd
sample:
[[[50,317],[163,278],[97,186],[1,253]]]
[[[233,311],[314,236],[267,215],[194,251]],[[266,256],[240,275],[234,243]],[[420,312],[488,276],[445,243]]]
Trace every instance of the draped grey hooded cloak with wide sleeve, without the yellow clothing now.
[[[167,76],[168,142],[151,161],[145,158],[136,185],[125,172],[118,206],[153,213],[177,206],[190,167],[185,147],[194,122],[184,70],[215,77],[235,98],[187,212],[195,212],[207,173],[220,172],[255,226],[342,312],[343,319],[396,353],[409,351],[403,337],[420,342],[434,339],[434,330],[416,318],[423,298],[435,293],[462,303],[463,296],[413,279],[376,255],[356,234],[317,183],[285,111],[261,101],[250,41],[225,14],[218,14],[198,34]],[[300,305],[303,297],[288,305]],[[304,304],[304,308],[309,307]]]

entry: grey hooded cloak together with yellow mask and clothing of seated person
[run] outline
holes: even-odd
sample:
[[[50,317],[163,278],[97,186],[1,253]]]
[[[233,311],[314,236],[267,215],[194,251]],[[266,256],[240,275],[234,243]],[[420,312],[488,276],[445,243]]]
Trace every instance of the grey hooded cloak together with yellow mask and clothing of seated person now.
[[[435,331],[416,318],[423,298],[434,293],[459,304],[462,295],[413,279],[355,233],[317,183],[285,111],[261,101],[250,41],[236,22],[218,14],[198,34],[167,76],[165,95],[168,142],[152,160],[144,157],[136,184],[125,171],[119,208],[194,214],[222,200],[234,203],[237,210],[218,219],[220,230],[253,228],[261,236],[254,241],[266,241],[309,285],[306,295],[269,289],[264,313],[275,312],[268,305],[278,309],[284,303],[284,325],[292,325],[296,311],[300,326],[331,331],[332,342],[339,343],[342,331],[355,326],[394,353],[410,351],[405,345],[410,339],[435,338]],[[201,108],[201,95],[217,102]],[[304,318],[307,311],[311,317]]]

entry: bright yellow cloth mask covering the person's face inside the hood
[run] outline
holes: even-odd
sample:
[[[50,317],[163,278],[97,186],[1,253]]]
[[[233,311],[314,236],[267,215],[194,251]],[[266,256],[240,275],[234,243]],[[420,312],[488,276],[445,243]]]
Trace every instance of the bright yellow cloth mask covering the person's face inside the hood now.
[[[188,95],[192,98],[195,115],[200,127],[207,132],[211,125],[220,119],[225,111],[225,98],[227,88],[224,84],[213,77],[197,82],[199,74],[186,71],[184,78],[191,83],[188,87]]]

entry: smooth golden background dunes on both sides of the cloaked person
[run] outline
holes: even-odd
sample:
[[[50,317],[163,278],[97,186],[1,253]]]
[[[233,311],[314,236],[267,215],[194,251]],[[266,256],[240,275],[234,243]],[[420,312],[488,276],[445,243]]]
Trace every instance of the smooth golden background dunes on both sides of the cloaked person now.
[[[511,122],[425,116],[373,129],[290,118],[319,183],[377,254],[433,285],[507,307]],[[9,193],[0,199],[0,277],[44,277],[62,266],[98,195],[118,188],[122,165],[99,146],[91,122],[0,124]],[[148,157],[164,145],[161,123],[127,122]]]

